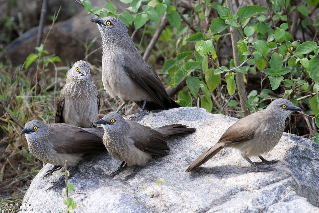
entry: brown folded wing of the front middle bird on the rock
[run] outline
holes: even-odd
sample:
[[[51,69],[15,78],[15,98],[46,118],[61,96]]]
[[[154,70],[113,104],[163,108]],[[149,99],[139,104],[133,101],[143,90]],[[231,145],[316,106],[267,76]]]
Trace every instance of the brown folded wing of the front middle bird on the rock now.
[[[169,150],[169,147],[164,135],[136,122],[129,121],[129,124],[131,127],[129,137],[137,148],[152,155],[168,155],[165,150]]]

